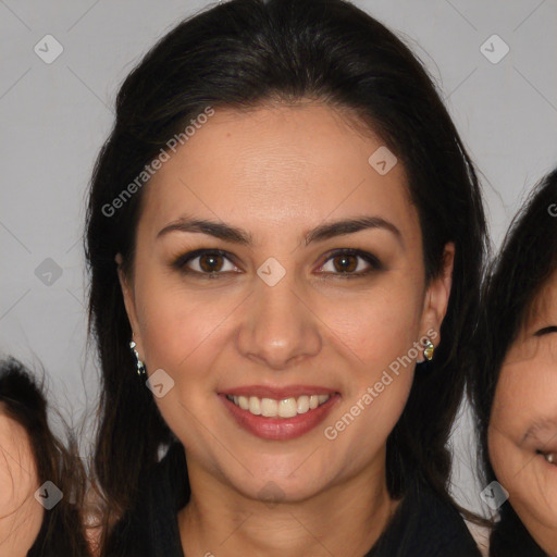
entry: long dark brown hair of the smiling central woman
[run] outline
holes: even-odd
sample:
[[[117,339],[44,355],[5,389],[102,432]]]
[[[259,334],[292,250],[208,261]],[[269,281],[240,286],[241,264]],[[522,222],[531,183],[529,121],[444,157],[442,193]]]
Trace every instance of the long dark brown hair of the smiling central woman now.
[[[133,277],[148,184],[119,196],[208,107],[249,110],[301,98],[347,110],[403,162],[428,282],[443,268],[445,245],[455,243],[443,341],[429,369],[416,376],[387,441],[386,467],[392,496],[417,473],[448,499],[447,438],[463,392],[486,249],[474,166],[420,61],[366,12],[343,0],[232,0],[180,23],[126,77],[92,175],[85,250],[89,333],[102,371],[96,474],[109,524],[134,504],[139,479],[158,461],[160,445],[173,438],[135,373],[114,262],[122,253],[122,268]],[[116,198],[123,201],[114,203]]]

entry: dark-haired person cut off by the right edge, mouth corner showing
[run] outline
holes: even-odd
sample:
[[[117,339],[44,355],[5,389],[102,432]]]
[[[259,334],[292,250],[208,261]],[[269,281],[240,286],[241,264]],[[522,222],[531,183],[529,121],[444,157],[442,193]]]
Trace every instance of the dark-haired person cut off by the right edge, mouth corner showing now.
[[[492,557],[557,555],[557,170],[516,215],[485,280],[472,377]],[[493,492],[492,492],[493,488]],[[505,491],[503,491],[505,490]]]

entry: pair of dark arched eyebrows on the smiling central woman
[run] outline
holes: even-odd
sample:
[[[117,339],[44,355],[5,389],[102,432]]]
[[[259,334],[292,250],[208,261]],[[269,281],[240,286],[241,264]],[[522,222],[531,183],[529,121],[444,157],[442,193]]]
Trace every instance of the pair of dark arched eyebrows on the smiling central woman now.
[[[346,234],[354,234],[363,230],[380,228],[391,232],[398,243],[404,247],[403,234],[389,221],[381,216],[360,216],[356,219],[343,219],[339,221],[320,224],[315,228],[307,232],[304,235],[306,246],[312,242],[323,242],[335,236],[343,236]],[[244,246],[252,245],[252,236],[249,232],[225,224],[222,222],[209,221],[206,219],[191,219],[182,216],[176,221],[171,222],[164,226],[158,234],[160,238],[171,232],[185,232],[185,233],[200,233],[209,236],[214,236],[222,240],[239,244]]]

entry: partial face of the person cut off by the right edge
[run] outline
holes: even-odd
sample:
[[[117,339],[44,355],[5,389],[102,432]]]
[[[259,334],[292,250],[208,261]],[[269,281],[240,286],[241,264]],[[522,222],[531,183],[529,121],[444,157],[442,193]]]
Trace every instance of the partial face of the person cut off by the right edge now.
[[[557,273],[510,347],[488,429],[495,474],[546,552],[557,553]]]

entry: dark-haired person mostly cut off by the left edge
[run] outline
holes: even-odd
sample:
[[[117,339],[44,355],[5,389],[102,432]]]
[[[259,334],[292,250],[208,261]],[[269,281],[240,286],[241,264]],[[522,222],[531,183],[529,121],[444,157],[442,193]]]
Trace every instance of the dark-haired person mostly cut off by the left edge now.
[[[0,361],[0,557],[81,557],[89,549],[79,508],[84,468],[70,437],[50,431],[29,371]],[[50,482],[50,483],[47,483]]]

